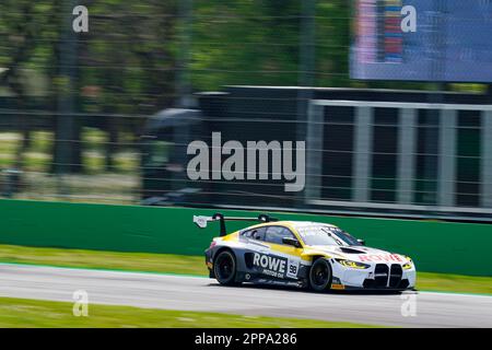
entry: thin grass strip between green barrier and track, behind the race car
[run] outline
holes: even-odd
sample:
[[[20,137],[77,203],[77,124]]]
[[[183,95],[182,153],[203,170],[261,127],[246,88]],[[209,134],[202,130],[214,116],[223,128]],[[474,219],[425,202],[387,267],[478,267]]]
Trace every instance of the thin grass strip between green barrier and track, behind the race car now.
[[[207,276],[203,257],[0,245],[0,262]],[[418,289],[492,294],[491,277],[418,272]]]

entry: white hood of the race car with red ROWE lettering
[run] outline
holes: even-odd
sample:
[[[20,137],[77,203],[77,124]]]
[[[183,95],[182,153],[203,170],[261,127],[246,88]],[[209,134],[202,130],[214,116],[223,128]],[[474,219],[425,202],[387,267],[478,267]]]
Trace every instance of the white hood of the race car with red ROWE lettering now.
[[[323,253],[335,258],[347,259],[359,262],[382,262],[382,264],[403,264],[410,259],[403,255],[389,253],[386,250],[366,247],[366,246],[332,246],[332,245],[315,245],[307,246],[305,253],[316,254]]]

